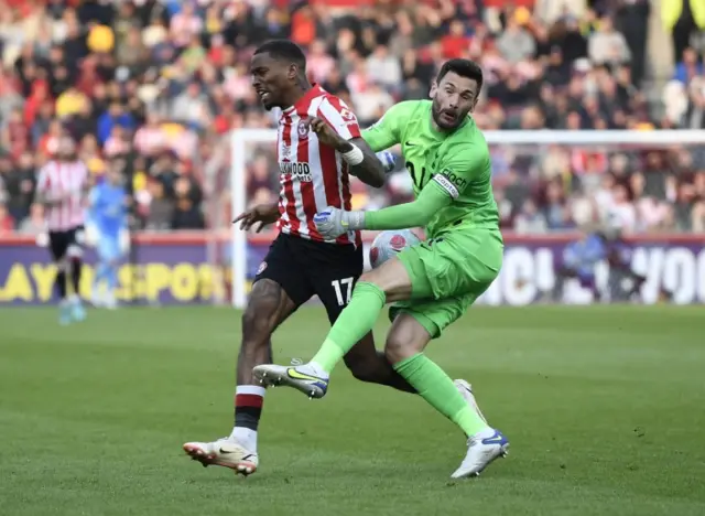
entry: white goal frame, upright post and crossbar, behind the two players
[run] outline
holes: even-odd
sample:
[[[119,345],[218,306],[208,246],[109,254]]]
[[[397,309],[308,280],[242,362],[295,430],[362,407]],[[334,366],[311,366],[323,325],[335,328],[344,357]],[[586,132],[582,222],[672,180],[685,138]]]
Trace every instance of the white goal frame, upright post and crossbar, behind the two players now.
[[[586,148],[596,152],[609,149],[661,150],[696,147],[705,154],[705,131],[702,130],[600,130],[600,131],[565,131],[565,130],[508,130],[486,131],[485,137],[490,147],[517,148],[531,154],[541,153],[542,149],[565,147],[566,149]],[[247,170],[248,163],[257,147],[268,149],[272,155],[276,143],[275,129],[238,129],[231,132],[231,214],[235,218],[248,207]],[[527,150],[531,149],[531,150]],[[241,232],[239,226],[231,226],[231,303],[236,308],[245,308],[249,291],[248,278],[248,243],[250,236]]]

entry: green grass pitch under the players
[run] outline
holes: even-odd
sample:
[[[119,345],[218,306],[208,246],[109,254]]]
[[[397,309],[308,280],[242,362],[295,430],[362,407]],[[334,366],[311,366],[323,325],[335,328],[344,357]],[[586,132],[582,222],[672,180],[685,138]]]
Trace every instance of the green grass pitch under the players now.
[[[510,455],[452,482],[463,437],[421,399],[357,383],[268,394],[260,471],[203,469],[181,444],[229,433],[229,309],[0,311],[0,513],[20,515],[703,515],[705,310],[471,310],[429,354],[475,385]],[[386,324],[380,324],[381,342]],[[327,330],[304,309],[280,363]]]

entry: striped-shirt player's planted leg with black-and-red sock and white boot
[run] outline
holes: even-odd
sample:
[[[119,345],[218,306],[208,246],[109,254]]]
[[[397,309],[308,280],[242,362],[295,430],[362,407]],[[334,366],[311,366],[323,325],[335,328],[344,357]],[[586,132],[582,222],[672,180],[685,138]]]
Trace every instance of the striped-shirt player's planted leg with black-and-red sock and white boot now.
[[[184,444],[184,451],[204,466],[220,465],[243,475],[257,471],[257,428],[262,413],[264,387],[253,379],[252,368],[272,361],[271,335],[295,309],[294,302],[276,282],[261,279],[254,283],[248,308],[242,315],[235,428],[225,439]]]

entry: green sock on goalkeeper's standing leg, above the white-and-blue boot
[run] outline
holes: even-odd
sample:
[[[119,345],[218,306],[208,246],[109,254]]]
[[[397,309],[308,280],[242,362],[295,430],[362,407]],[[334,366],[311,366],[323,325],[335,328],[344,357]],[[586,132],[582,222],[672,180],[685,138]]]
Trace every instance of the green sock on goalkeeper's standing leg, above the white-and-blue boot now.
[[[434,409],[460,427],[466,436],[475,436],[488,428],[455,388],[451,377],[425,355],[420,353],[394,364],[394,369]]]

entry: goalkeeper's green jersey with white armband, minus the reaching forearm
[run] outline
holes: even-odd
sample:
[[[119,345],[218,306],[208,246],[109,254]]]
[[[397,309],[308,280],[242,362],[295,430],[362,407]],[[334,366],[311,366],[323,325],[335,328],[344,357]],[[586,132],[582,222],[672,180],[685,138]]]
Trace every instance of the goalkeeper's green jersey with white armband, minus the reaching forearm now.
[[[415,197],[426,185],[452,197],[426,225],[427,237],[449,229],[499,229],[485,136],[470,117],[453,131],[438,131],[432,125],[431,106],[431,100],[397,104],[362,131],[362,138],[375,152],[401,143]]]

